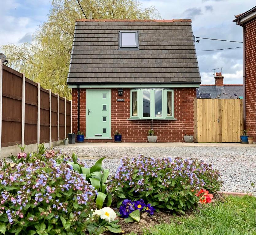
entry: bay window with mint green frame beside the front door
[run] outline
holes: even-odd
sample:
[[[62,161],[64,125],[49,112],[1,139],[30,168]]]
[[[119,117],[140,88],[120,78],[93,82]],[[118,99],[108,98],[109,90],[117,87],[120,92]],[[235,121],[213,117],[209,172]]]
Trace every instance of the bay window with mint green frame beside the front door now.
[[[171,89],[132,89],[130,118],[174,119],[174,94]]]

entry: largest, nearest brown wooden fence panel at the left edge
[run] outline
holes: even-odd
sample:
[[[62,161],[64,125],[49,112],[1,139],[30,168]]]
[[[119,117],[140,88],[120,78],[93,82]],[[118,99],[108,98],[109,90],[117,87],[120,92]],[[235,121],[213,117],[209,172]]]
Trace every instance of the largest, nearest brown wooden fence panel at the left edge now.
[[[2,147],[21,144],[22,74],[4,66],[2,78]]]

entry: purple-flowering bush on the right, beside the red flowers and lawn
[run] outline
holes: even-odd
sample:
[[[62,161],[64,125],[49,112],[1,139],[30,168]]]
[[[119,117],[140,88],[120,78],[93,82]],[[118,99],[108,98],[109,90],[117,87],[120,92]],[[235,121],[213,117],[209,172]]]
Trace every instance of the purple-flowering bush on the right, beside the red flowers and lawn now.
[[[111,190],[118,199],[144,200],[159,209],[181,211],[198,202],[195,192],[201,188],[214,192],[220,189],[220,173],[197,159],[170,157],[124,158],[111,179]]]

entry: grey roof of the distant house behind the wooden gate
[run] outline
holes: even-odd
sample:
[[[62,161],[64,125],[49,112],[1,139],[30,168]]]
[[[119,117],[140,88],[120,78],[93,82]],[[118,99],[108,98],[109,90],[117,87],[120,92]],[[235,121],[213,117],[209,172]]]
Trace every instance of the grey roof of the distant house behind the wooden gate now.
[[[243,86],[241,85],[200,85],[198,88],[200,93],[210,93],[212,99],[237,99],[243,96]]]

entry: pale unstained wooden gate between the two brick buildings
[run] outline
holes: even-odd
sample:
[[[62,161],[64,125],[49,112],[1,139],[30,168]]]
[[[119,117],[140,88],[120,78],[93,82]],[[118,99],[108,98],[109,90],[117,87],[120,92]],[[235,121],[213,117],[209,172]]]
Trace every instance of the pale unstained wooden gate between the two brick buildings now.
[[[242,99],[195,99],[195,142],[240,142]]]

